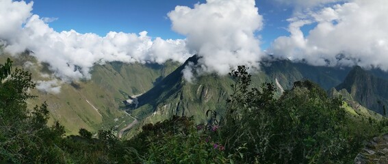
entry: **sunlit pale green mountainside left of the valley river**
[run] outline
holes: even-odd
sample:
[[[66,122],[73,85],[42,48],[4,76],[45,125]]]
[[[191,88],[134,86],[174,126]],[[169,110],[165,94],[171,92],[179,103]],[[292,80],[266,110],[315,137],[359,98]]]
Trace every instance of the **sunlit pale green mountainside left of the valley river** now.
[[[1,52],[0,52],[1,54]],[[1,54],[0,61],[11,57],[14,68],[24,67],[31,72],[34,81],[57,81],[48,64],[40,64],[28,52],[12,57]],[[128,96],[142,94],[159,83],[166,74],[170,74],[179,64],[168,61],[166,64],[123,64],[110,62],[96,65],[92,69],[92,79],[60,84],[60,93],[31,90],[38,98],[29,101],[29,105],[47,102],[50,120],[58,121],[66,128],[66,133],[77,134],[79,128],[96,132],[112,126],[120,130],[133,121],[125,111],[122,100]]]

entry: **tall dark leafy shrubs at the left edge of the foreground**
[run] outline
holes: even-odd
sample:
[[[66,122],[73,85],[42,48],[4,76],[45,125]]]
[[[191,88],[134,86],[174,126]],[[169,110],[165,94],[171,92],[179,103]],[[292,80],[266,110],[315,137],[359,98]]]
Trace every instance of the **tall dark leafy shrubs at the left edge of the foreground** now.
[[[8,63],[12,63],[8,61]],[[60,163],[65,156],[55,142],[64,134],[57,122],[47,126],[47,104],[27,109],[34,98],[28,90],[35,86],[31,74],[16,68],[0,83],[0,161],[9,163]]]

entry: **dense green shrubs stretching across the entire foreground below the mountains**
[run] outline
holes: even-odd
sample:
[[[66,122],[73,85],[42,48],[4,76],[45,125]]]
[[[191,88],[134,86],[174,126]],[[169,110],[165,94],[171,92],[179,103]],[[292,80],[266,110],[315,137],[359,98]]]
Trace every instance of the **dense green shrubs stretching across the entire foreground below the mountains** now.
[[[233,94],[221,120],[214,111],[207,111],[207,124],[174,116],[127,141],[111,130],[64,137],[60,124],[47,126],[47,105],[27,109],[31,74],[7,72],[0,83],[0,163],[352,163],[363,141],[387,124],[354,118],[340,98],[309,81],[275,99],[270,83],[250,88],[246,70],[231,72]]]

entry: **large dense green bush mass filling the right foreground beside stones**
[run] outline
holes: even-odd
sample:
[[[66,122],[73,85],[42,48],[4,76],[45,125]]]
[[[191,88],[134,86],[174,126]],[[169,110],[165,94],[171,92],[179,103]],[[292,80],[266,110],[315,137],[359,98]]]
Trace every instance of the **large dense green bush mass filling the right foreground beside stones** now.
[[[248,89],[245,67],[232,70],[231,76],[236,84],[220,129],[229,153],[246,146],[241,163],[345,163],[381,127],[350,120],[341,98],[328,98],[311,81],[295,82],[275,100],[270,83]]]

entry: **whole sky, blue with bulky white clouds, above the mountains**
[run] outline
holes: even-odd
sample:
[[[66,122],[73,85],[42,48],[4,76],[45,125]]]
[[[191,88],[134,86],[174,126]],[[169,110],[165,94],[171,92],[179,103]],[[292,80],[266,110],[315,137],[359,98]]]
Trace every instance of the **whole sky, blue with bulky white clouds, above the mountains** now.
[[[183,70],[190,82],[259,68],[268,55],[388,70],[387,14],[387,0],[0,0],[0,44],[48,63],[55,74],[39,86],[51,89],[90,79],[95,64],[183,63],[195,54],[198,64]]]

